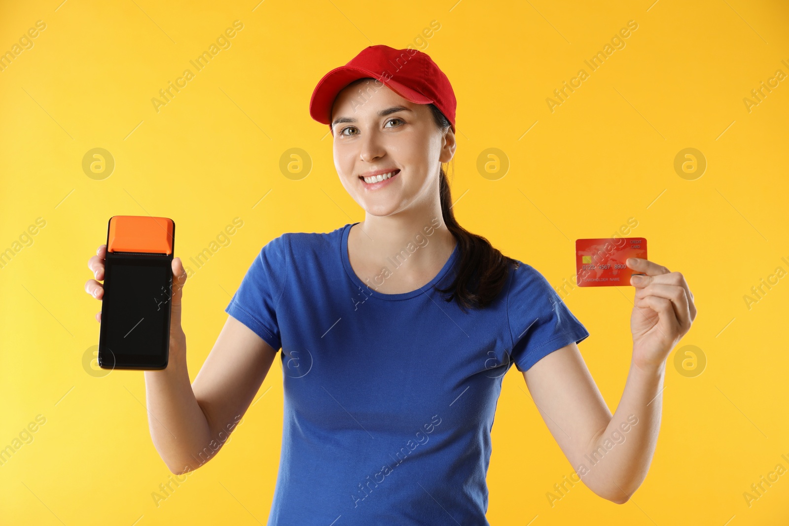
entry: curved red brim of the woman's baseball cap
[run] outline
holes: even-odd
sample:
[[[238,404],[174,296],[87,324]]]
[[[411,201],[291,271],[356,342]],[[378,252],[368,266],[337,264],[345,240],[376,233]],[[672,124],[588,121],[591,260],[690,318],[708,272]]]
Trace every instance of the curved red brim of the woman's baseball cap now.
[[[414,91],[396,80],[384,79],[380,74],[373,73],[368,69],[342,65],[326,73],[312,91],[312,97],[309,99],[310,117],[321,124],[331,126],[331,106],[334,104],[338,93],[342,91],[342,88],[345,88],[354,80],[363,79],[368,76],[379,80],[385,84],[387,88],[391,89],[391,91],[394,91],[403,99],[412,103],[430,104],[434,102],[432,99],[422,95],[419,91]]]

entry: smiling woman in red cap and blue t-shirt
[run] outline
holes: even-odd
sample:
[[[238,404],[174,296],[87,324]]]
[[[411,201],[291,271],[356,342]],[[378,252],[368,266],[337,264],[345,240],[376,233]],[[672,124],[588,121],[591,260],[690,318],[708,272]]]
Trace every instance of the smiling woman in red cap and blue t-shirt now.
[[[455,221],[442,167],[454,110],[449,80],[416,50],[368,47],[323,77],[310,114],[330,125],[335,168],[365,221],[268,242],[193,385],[185,270],[173,260],[170,363],[144,373],[151,438],[172,472],[215,455],[282,347],[269,524],[488,524],[490,431],[512,364],[592,491],[623,503],[638,488],[693,295],[682,274],[628,262],[645,275],[631,283],[633,358],[611,415],[578,351],[585,327],[537,270]],[[88,263],[96,280],[104,254]],[[96,280],[86,290],[101,299]]]

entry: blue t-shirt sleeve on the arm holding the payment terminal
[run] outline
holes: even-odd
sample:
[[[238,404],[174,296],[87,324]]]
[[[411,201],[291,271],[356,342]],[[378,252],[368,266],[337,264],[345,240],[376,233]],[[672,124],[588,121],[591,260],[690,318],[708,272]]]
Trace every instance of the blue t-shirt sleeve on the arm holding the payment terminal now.
[[[285,289],[287,246],[286,234],[282,234],[260,249],[225,309],[275,351],[282,348],[277,305]]]

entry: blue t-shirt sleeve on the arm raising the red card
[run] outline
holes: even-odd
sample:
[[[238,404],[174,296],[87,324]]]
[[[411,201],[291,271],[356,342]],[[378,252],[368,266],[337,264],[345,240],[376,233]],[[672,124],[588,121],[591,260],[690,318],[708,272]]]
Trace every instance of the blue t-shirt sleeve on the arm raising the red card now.
[[[521,263],[510,272],[507,317],[513,341],[511,360],[518,371],[528,371],[544,356],[589,336],[539,271]]]

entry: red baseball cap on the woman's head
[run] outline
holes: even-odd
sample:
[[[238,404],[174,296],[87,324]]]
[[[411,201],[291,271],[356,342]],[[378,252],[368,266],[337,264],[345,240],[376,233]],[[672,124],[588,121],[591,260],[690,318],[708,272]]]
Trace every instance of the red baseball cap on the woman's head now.
[[[433,103],[449,119],[454,132],[457,101],[449,79],[428,54],[420,50],[378,45],[361,50],[346,65],[332,69],[312,91],[309,114],[331,127],[331,106],[337,94],[354,80],[372,77],[403,99],[416,104]]]

